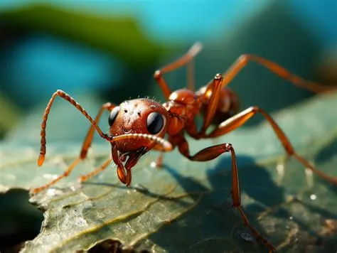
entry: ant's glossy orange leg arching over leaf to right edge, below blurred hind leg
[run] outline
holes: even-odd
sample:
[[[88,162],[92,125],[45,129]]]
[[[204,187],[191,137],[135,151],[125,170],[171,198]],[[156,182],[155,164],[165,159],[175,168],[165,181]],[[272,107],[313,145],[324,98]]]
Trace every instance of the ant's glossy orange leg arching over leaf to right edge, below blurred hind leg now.
[[[311,169],[311,171],[316,173],[321,178],[330,183],[337,184],[337,177],[331,177],[326,175],[326,173],[323,173],[316,169],[314,166],[312,166],[302,156],[299,156],[299,154],[296,153],[288,137],[286,136],[286,134],[284,134],[279,125],[274,121],[274,119],[272,119],[272,117],[270,117],[269,114],[267,114],[267,112],[264,112],[264,110],[259,107],[249,107],[248,109],[245,109],[245,111],[242,111],[239,114],[231,117],[230,119],[225,120],[213,132],[206,136],[206,138],[215,138],[217,136],[227,134],[228,132],[237,129],[238,127],[242,126],[242,124],[245,124],[248,119],[257,114],[257,112],[260,112],[260,114],[262,114],[262,116],[267,119],[267,122],[269,122],[269,124],[272,126],[272,129],[277,135],[279,141],[281,141],[282,146],[284,147],[284,150],[287,152],[288,156],[294,156],[297,161],[306,166],[306,168]]]

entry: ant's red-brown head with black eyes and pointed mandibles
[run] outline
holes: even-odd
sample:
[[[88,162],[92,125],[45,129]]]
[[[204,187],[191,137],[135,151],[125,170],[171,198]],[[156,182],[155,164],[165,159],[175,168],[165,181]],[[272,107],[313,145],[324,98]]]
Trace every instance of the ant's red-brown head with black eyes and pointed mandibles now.
[[[112,158],[119,169],[119,172],[117,171],[119,179],[129,184],[129,179],[123,176],[122,171],[125,168],[129,173],[142,155],[154,146],[161,145],[159,140],[163,139],[166,134],[169,113],[154,100],[133,99],[114,107],[109,114],[108,121],[109,134],[112,139],[117,140],[119,136],[124,136],[119,141],[111,142]],[[128,159],[127,156],[129,156]],[[126,163],[123,166],[124,161]]]

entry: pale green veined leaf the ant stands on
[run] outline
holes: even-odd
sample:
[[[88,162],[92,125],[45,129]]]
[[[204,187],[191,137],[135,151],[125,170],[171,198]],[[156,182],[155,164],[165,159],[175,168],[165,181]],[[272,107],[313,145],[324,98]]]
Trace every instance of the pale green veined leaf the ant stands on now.
[[[77,101],[91,114],[98,109],[90,100],[80,97]],[[79,137],[85,136],[88,124],[69,108],[60,103],[52,109],[42,168],[36,158],[43,109],[0,144],[2,192],[43,185],[77,156]],[[337,176],[333,108],[337,108],[337,94],[321,95],[273,117],[300,154],[321,171]],[[103,125],[107,129],[106,119]],[[164,168],[157,169],[150,166],[158,155],[153,151],[134,167],[131,188],[118,182],[113,166],[81,186],[76,178],[109,156],[109,144],[98,141],[87,161],[68,178],[31,198],[43,210],[44,221],[40,234],[22,252],[75,252],[118,244],[153,252],[267,252],[254,243],[240,215],[230,208],[228,154],[199,163],[173,151],[164,156]],[[282,146],[269,124],[237,129],[215,140],[188,141],[192,153],[223,142],[234,146],[242,205],[252,225],[280,252],[333,252],[337,248],[336,230],[326,225],[337,219],[337,188],[305,171],[294,158],[284,161]]]

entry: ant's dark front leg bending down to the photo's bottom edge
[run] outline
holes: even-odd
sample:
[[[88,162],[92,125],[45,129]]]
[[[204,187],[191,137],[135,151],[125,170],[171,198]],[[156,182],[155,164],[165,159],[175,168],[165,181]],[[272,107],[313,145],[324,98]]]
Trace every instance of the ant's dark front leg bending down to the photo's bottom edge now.
[[[181,136],[181,143],[178,145],[178,149],[181,152],[181,154],[183,154],[183,156],[186,156],[186,158],[188,158],[191,161],[210,161],[213,160],[214,158],[217,158],[218,156],[220,156],[225,152],[230,152],[232,156],[232,190],[231,190],[232,207],[239,210],[243,223],[245,224],[246,227],[250,229],[255,238],[260,242],[262,242],[262,244],[264,244],[264,246],[269,249],[269,252],[274,252],[276,250],[275,247],[270,242],[268,242],[267,239],[264,239],[262,235],[260,235],[260,232],[258,232],[255,229],[255,227],[252,227],[252,225],[250,225],[250,222],[242,209],[240,199],[239,173],[237,170],[235,151],[234,148],[232,147],[232,144],[220,144],[210,146],[208,148],[199,151],[194,156],[191,156],[188,149],[188,142],[183,136]]]

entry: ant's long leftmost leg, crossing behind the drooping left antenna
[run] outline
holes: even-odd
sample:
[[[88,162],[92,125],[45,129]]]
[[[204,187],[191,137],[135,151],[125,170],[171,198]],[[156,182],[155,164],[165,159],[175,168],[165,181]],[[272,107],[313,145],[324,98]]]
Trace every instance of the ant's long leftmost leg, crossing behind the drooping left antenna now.
[[[102,113],[105,111],[105,109],[108,109],[109,111],[111,111],[114,107],[115,107],[115,105],[113,105],[111,103],[103,104],[102,107],[101,107],[101,109],[100,109],[100,112],[98,112],[98,114],[97,114],[97,116],[95,118],[95,123],[98,124],[98,122],[100,121],[100,117],[102,116]],[[49,107],[49,109],[50,109],[50,107]],[[47,117],[48,117],[48,114],[47,114]],[[45,127],[46,127],[46,124],[45,124]],[[62,175],[58,176],[58,178],[55,178],[53,181],[50,181],[46,185],[42,185],[41,187],[32,189],[31,193],[33,193],[33,194],[39,193],[39,192],[41,192],[41,190],[45,190],[46,188],[49,188],[51,185],[54,185],[55,183],[57,183],[58,181],[60,181],[62,178],[67,177],[70,174],[70,172],[73,171],[73,168],[75,168],[75,166],[77,165],[77,163],[79,163],[80,161],[82,161],[87,156],[87,151],[90,148],[90,145],[92,143],[92,139],[93,139],[93,136],[94,136],[94,131],[95,131],[95,126],[92,124],[90,126],[89,131],[87,132],[87,136],[85,137],[85,140],[83,141],[82,149],[80,151],[80,156],[77,157],[75,159],[75,161],[73,161],[72,164],[70,164],[70,166],[67,168],[67,170]]]

